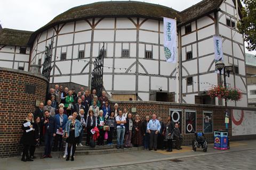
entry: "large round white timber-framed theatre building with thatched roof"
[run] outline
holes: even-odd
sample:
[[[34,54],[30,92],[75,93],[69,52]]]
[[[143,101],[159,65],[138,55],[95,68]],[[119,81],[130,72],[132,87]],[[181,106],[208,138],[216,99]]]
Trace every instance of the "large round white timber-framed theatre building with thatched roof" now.
[[[217,35],[222,37],[223,61],[234,66],[227,83],[244,91],[241,101],[229,102],[228,106],[247,107],[244,39],[235,29],[242,5],[238,1],[237,14],[234,2],[203,0],[181,12],[134,1],[77,6],[31,34],[27,39],[30,50],[26,53],[26,62],[43,63],[45,46],[53,37],[50,82],[73,82],[90,87],[93,61],[104,42],[103,86],[110,96],[174,101],[177,71],[175,64],[165,61],[163,16],[176,18],[179,74],[182,78],[179,80],[180,101],[218,105],[218,100],[209,100],[205,96],[211,84],[218,84],[213,49],[213,36]],[[9,38],[6,37],[7,42]],[[5,46],[8,43],[1,39],[0,44],[3,44],[0,60],[9,62],[1,66],[17,65],[17,47],[15,53],[15,50],[6,53],[15,47],[14,44]]]

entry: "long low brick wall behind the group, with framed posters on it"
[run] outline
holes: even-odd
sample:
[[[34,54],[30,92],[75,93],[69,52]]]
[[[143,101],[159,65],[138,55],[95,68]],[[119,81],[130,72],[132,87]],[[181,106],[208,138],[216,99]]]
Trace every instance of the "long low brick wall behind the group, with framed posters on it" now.
[[[114,106],[115,102],[112,102],[111,106]],[[213,105],[191,105],[191,104],[177,104],[177,103],[166,103],[158,101],[117,101],[119,108],[127,108],[131,113],[131,108],[136,107],[136,114],[139,114],[142,120],[145,120],[145,116],[151,116],[155,113],[157,116],[162,117],[162,120],[166,123],[167,116],[169,115],[169,109],[181,109],[182,110],[182,137],[183,145],[191,145],[191,141],[194,139],[194,134],[185,134],[185,110],[196,111],[196,131],[203,132],[203,111],[213,112],[213,131],[214,130],[225,130],[225,107],[223,106],[213,106]],[[113,108],[113,107],[111,107]],[[238,108],[238,107],[228,107],[229,113],[230,109],[246,109],[251,108]],[[251,109],[253,110],[253,109]],[[254,110],[253,110],[254,111]],[[229,134],[232,130],[231,118],[229,123]],[[206,133],[206,139],[213,142],[213,133]],[[249,140],[256,139],[256,135],[238,135],[230,136],[230,140]]]

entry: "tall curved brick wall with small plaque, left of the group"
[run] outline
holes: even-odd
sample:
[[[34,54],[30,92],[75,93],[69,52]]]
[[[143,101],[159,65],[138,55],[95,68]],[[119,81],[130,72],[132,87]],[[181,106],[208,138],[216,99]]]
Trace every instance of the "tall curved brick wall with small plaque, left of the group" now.
[[[45,100],[46,83],[36,74],[0,67],[0,157],[21,153],[21,125],[35,111],[35,100]],[[25,92],[27,84],[35,86],[35,94]]]

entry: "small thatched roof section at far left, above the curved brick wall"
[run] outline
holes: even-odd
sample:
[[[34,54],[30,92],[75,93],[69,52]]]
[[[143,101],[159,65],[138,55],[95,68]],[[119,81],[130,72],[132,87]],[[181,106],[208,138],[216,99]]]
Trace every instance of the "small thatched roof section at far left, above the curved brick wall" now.
[[[28,46],[28,40],[33,32],[13,30],[13,29],[1,29],[0,30],[0,45],[10,46]]]

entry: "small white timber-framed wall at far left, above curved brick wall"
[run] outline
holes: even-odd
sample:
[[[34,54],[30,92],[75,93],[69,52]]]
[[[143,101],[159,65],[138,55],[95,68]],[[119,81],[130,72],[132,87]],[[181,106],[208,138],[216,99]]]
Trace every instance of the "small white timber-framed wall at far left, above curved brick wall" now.
[[[26,48],[26,53],[20,53],[20,48]],[[29,71],[29,47],[0,45],[0,67]]]

